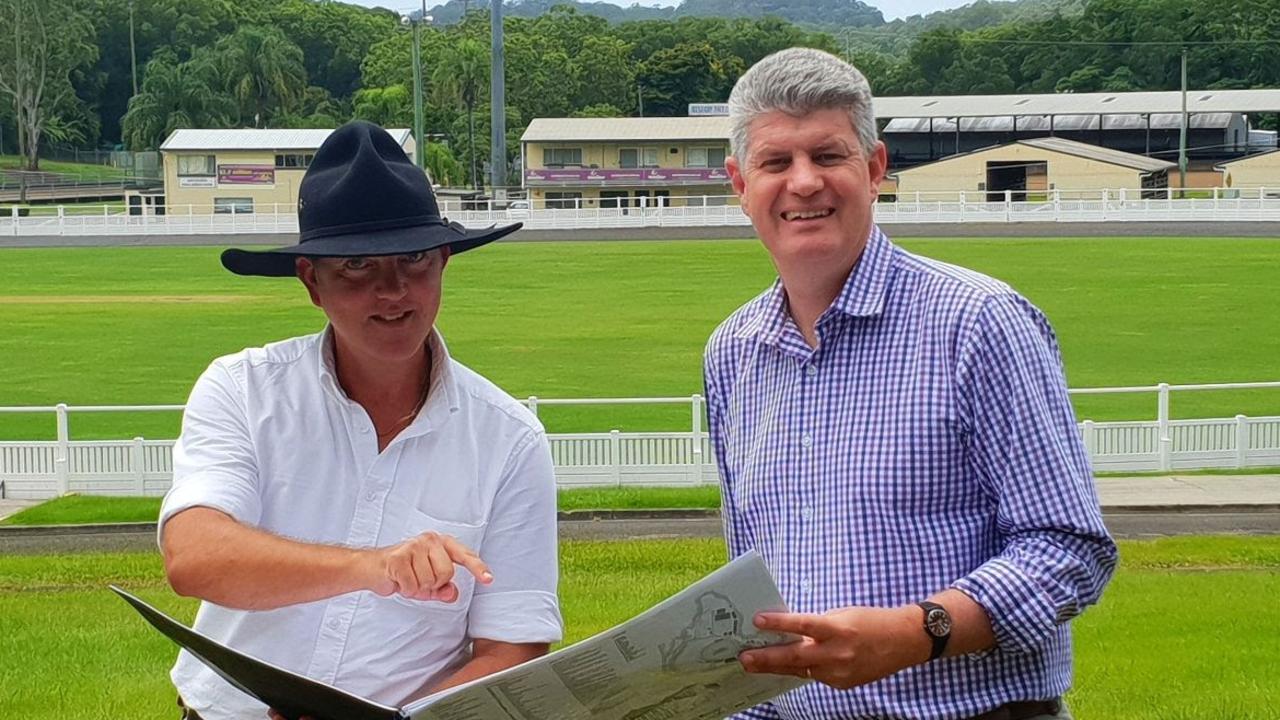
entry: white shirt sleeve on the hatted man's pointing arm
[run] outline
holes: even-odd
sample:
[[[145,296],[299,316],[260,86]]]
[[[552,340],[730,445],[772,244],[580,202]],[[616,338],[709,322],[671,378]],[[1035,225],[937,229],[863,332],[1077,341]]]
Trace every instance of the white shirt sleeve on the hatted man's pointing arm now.
[[[156,539],[163,539],[169,518],[195,506],[214,507],[248,525],[256,525],[262,512],[244,395],[224,360],[205,370],[187,398]]]

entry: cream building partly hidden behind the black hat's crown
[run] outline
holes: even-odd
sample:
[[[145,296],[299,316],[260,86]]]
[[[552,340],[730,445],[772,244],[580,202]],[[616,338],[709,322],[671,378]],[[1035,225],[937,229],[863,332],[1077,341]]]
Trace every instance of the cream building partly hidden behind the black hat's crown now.
[[[298,183],[332,129],[177,129],[164,143],[164,195],[138,193],[148,213],[293,213]],[[388,129],[410,156],[413,133]]]

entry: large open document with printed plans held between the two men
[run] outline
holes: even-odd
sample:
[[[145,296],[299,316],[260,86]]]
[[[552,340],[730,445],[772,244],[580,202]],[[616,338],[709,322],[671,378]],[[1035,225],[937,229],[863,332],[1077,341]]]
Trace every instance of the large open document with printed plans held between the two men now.
[[[111,587],[157,630],[228,683],[291,720],[700,720],[719,719],[796,688],[790,675],[751,675],[739,652],[797,641],[751,618],[786,610],[754,551],[593,638],[486,678],[388,707],[262,662]]]

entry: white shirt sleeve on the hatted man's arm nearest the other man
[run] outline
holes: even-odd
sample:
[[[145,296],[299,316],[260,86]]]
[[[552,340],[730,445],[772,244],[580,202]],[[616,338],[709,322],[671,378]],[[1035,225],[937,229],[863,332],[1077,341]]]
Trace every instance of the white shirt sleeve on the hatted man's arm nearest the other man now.
[[[476,585],[467,634],[508,643],[563,637],[556,537],[556,469],[541,430],[511,455],[494,497],[481,556],[493,584]]]

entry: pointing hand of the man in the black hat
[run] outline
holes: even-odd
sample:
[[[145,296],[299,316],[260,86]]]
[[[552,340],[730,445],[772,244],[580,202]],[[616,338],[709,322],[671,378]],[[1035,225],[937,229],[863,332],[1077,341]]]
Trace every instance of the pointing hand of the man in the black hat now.
[[[378,574],[369,589],[380,596],[453,602],[458,600],[454,565],[466,568],[480,584],[493,582],[489,566],[475,551],[452,536],[434,532],[375,550],[372,559]]]

